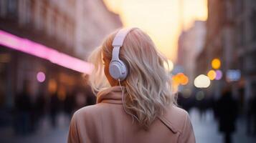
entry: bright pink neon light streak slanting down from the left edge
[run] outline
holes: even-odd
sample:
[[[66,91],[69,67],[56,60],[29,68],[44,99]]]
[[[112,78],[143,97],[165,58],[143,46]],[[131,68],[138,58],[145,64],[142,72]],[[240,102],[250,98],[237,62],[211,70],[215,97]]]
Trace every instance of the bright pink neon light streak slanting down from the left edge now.
[[[93,64],[82,61],[81,59],[63,54],[42,44],[30,41],[29,39],[20,38],[1,30],[0,44],[7,46],[10,49],[16,49],[27,54],[38,56],[42,59],[47,59],[54,64],[58,64],[68,69],[79,71],[85,74],[91,74],[94,68]]]

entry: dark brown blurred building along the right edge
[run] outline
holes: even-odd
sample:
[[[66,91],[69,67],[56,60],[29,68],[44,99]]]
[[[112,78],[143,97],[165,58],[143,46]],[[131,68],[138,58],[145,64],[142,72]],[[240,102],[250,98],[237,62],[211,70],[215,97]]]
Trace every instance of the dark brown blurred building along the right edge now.
[[[252,0],[209,0],[207,36],[204,49],[197,56],[196,74],[207,74],[212,69],[214,58],[221,60],[223,78],[212,81],[214,94],[218,97],[227,84],[231,84],[235,97],[240,101],[256,94],[256,1]],[[230,69],[241,72],[235,81],[227,78]],[[240,73],[238,73],[240,74]]]

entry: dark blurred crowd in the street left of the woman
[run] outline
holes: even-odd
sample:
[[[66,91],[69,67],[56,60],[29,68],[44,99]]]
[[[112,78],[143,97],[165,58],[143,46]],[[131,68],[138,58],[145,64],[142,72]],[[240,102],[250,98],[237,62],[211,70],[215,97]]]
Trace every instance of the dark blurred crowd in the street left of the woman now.
[[[13,127],[16,134],[36,132],[43,119],[49,119],[52,128],[57,127],[57,117],[65,114],[70,121],[73,112],[81,107],[95,104],[96,99],[90,87],[84,90],[72,90],[61,97],[57,92],[49,95],[38,94],[32,98],[29,87],[17,94],[14,99]]]

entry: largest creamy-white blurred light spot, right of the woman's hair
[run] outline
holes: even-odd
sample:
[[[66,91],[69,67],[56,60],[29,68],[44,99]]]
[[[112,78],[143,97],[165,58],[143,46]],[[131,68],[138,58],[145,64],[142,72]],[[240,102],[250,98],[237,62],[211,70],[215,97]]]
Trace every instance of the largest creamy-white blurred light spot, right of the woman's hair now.
[[[194,86],[197,88],[207,88],[211,84],[209,77],[204,74],[200,74],[196,79],[194,79]]]

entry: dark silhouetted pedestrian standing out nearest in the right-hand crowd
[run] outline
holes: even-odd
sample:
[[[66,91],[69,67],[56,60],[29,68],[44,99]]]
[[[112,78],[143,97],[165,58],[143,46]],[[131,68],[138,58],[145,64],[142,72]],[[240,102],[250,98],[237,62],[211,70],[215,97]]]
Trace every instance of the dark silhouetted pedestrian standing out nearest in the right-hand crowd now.
[[[217,101],[216,112],[219,132],[223,132],[225,143],[232,143],[232,134],[236,130],[237,106],[237,101],[232,97],[231,89],[229,87],[224,89],[222,97]]]

